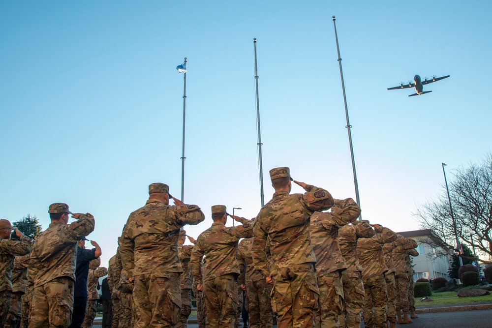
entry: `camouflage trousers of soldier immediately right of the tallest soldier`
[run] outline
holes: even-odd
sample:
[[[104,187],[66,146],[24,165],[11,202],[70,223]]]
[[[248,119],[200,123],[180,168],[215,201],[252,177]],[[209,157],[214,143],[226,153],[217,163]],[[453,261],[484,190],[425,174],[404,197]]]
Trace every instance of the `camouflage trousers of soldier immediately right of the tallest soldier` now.
[[[319,307],[315,328],[338,328],[343,310],[343,286],[340,271],[318,277]]]

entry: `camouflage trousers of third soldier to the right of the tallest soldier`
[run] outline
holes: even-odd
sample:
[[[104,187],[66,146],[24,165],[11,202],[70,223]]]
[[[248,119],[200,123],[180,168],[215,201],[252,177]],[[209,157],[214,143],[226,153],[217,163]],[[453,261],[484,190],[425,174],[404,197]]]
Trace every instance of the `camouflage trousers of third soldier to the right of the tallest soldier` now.
[[[364,304],[364,324],[366,327],[383,328],[386,324],[386,303],[388,301],[386,282],[383,275],[370,277],[364,281],[366,294]]]

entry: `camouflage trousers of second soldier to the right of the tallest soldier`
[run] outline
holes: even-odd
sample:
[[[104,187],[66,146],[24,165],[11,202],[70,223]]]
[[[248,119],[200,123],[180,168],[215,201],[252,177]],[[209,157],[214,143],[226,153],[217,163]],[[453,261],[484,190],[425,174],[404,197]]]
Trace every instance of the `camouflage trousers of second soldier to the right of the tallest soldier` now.
[[[361,311],[364,307],[364,284],[360,271],[343,271],[343,310],[338,317],[342,328],[360,328]]]

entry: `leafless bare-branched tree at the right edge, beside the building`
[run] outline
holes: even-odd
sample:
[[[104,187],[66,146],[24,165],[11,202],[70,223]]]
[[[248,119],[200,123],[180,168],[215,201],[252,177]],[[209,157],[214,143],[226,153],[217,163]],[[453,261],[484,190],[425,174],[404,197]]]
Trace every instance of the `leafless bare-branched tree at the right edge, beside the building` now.
[[[478,164],[458,168],[453,176],[448,185],[455,222],[444,185],[440,195],[419,206],[413,215],[421,228],[431,229],[447,244],[456,246],[458,238],[480,254],[492,257],[492,153],[487,153]]]

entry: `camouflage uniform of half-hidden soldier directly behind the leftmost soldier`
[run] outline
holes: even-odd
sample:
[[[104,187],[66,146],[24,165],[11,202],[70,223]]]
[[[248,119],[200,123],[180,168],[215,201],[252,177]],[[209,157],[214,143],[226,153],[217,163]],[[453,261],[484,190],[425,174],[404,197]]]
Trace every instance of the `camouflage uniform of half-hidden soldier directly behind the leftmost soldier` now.
[[[12,299],[7,314],[5,328],[17,328],[22,317],[22,296],[26,293],[28,284],[28,267],[31,253],[24,256],[16,256],[12,269]]]

